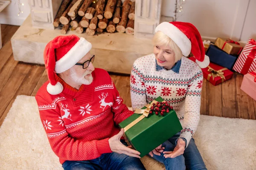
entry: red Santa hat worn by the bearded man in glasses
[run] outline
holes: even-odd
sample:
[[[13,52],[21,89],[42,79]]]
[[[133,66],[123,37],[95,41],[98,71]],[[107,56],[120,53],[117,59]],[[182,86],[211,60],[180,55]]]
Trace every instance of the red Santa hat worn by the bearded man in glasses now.
[[[60,94],[63,90],[56,74],[72,68],[91,48],[90,42],[76,35],[58,36],[48,42],[44,49],[44,64],[49,79],[49,94]]]

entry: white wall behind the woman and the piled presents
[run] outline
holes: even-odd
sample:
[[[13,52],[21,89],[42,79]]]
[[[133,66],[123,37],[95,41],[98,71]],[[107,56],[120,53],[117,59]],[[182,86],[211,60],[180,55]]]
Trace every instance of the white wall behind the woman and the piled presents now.
[[[163,0],[162,15],[173,17],[175,2]],[[194,24],[203,38],[246,42],[248,37],[256,37],[255,8],[256,0],[185,0],[177,21]]]

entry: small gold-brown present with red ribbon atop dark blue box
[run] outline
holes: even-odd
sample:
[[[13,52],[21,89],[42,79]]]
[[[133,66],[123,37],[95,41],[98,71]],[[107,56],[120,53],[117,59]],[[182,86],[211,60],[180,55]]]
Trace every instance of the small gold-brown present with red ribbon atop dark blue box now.
[[[224,38],[217,38],[215,45],[227,54],[239,55],[243,49],[239,42]]]

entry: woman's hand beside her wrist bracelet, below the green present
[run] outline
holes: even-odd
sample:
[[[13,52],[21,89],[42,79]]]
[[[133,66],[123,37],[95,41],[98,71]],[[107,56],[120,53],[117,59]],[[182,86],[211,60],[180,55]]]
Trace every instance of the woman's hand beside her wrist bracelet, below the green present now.
[[[185,141],[183,141],[183,139],[179,138],[177,140],[177,145],[174,148],[174,150],[173,151],[164,151],[163,156],[165,158],[175,158],[176,156],[180,156],[184,153],[185,146],[186,146]]]

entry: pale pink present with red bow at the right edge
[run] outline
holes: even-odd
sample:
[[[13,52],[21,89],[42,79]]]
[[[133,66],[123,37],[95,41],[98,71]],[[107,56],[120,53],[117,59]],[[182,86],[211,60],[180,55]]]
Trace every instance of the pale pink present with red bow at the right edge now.
[[[244,75],[240,88],[251,98],[256,100],[256,71],[252,71]]]

